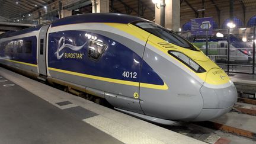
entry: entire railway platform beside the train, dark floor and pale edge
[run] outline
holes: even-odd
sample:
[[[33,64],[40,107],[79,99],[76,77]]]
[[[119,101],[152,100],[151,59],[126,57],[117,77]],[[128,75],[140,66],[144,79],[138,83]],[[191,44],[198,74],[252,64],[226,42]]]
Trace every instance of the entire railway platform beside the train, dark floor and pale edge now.
[[[204,143],[0,67],[0,143]]]

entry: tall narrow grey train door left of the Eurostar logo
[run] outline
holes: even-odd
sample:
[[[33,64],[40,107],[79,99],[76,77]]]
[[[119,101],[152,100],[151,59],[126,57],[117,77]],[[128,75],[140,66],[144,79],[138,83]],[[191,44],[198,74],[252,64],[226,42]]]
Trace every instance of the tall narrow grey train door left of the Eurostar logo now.
[[[46,36],[47,36],[47,30],[49,28],[49,25],[44,25],[40,29],[39,33],[39,43],[38,43],[38,66],[39,66],[39,74],[40,75],[47,75],[46,72]]]

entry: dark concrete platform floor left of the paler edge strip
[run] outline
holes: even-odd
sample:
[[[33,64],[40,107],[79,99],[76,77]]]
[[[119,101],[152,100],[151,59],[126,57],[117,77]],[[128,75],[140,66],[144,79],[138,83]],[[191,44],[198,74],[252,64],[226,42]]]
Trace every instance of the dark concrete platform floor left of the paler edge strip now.
[[[0,80],[0,143],[122,143],[14,82]]]

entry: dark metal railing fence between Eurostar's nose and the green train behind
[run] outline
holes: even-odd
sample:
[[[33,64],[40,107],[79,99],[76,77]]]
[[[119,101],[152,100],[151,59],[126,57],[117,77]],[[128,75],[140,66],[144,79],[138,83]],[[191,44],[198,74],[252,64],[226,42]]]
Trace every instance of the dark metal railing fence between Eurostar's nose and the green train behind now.
[[[255,27],[178,32],[226,72],[255,74]]]

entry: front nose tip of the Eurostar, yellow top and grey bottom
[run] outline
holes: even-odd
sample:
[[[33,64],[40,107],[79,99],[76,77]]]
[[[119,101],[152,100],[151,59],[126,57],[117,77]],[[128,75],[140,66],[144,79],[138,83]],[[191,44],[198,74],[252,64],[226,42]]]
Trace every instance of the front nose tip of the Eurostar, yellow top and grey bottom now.
[[[228,113],[233,104],[236,103],[237,91],[235,85],[225,72],[220,71],[222,69],[212,69],[207,73],[206,82],[200,88],[203,97],[203,110],[197,116],[196,121],[216,119],[222,114]],[[213,79],[216,85],[207,84],[209,79]],[[217,83],[220,84],[217,85]]]

